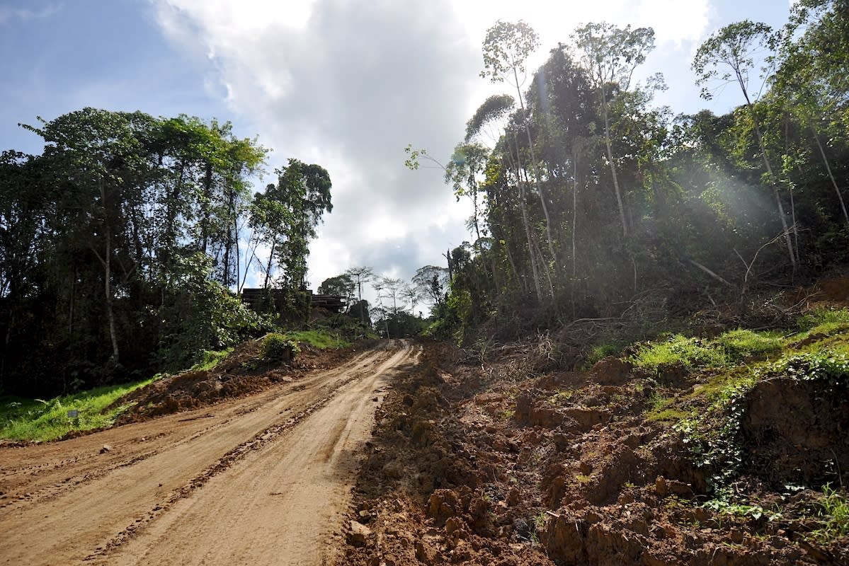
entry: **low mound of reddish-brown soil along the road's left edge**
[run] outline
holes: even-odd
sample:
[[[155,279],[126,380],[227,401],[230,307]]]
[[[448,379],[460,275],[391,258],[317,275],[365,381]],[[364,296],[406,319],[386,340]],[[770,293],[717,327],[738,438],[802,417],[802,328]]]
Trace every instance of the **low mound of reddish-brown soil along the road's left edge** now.
[[[301,345],[295,360],[267,363],[260,357],[260,340],[248,340],[210,370],[167,376],[121,397],[115,406],[132,407],[118,417],[116,424],[138,423],[250,395],[273,384],[295,381],[305,371],[332,367],[349,355],[348,350],[318,350]]]

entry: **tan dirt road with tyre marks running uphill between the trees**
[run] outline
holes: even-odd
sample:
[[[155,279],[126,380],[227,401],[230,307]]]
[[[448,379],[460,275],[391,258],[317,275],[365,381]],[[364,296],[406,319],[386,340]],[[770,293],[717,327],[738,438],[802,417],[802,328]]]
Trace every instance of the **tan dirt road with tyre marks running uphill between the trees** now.
[[[320,564],[395,343],[236,401],[0,449],[0,563]]]

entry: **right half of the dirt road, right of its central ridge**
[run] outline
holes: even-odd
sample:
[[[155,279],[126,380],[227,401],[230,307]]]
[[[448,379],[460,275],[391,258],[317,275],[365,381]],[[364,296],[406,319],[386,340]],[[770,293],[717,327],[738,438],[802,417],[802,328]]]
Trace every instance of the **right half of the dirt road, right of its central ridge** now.
[[[347,379],[309,411],[237,447],[233,461],[222,458],[202,484],[187,485],[155,517],[131,525],[87,560],[323,563],[344,517],[360,443],[371,432],[388,373],[403,361],[417,361],[417,351],[397,352],[368,376]]]

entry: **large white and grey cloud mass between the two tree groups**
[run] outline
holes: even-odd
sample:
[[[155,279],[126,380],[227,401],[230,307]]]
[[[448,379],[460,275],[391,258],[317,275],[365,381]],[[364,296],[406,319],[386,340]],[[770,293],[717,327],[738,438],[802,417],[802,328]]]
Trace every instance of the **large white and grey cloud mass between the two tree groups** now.
[[[250,121],[275,165],[297,157],[328,169],[334,212],[312,245],[313,287],[351,265],[410,277],[469,238],[468,204],[440,171],[407,171],[402,149],[451,154],[475,108],[509,89],[478,76],[495,20],[539,32],[532,69],[588,21],[653,25],[659,46],[689,48],[710,13],[708,0],[151,2],[166,35],[209,65],[207,92]]]

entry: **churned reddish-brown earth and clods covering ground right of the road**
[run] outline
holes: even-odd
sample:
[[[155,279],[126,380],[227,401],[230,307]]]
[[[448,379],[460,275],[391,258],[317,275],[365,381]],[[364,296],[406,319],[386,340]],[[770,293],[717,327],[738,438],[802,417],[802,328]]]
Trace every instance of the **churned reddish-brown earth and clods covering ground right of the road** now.
[[[711,511],[711,470],[645,418],[698,376],[647,378],[613,359],[541,371],[529,351],[425,348],[377,416],[340,563],[849,563],[849,537],[811,535],[822,494],[776,487],[822,473],[831,451],[849,469],[846,395],[828,406],[804,388],[753,390],[740,438],[754,463],[733,487],[762,508]]]

